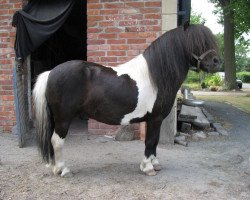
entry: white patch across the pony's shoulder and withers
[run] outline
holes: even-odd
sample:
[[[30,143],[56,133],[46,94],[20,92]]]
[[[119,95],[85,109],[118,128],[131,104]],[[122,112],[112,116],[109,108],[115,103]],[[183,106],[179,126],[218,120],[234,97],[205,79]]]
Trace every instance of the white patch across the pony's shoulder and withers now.
[[[128,125],[132,119],[141,118],[151,113],[157,97],[157,88],[154,86],[148,71],[148,65],[142,54],[129,62],[112,67],[118,76],[127,74],[136,82],[138,87],[138,102],[133,112],[126,114],[121,120],[121,125]]]

